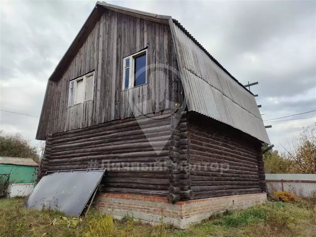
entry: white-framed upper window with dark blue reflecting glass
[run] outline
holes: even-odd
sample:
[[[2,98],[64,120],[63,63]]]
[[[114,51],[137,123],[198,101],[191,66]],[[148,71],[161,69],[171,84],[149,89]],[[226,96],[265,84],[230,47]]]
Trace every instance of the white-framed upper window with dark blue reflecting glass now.
[[[147,49],[123,58],[123,90],[147,83]]]

